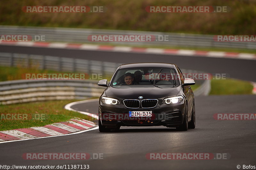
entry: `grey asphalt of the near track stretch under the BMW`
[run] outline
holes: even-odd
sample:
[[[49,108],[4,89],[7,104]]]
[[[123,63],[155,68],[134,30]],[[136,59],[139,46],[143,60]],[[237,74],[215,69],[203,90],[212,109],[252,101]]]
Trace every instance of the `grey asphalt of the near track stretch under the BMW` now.
[[[1,164],[75,165],[91,169],[236,169],[255,164],[255,121],[215,120],[215,113],[255,113],[255,95],[199,96],[195,99],[196,129],[165,127],[98,129],[63,137],[3,143]],[[98,102],[77,104],[80,111],[97,113]],[[69,142],[67,142],[69,141]],[[103,153],[99,160],[24,160],[23,153]],[[228,153],[227,160],[148,160],[147,153]]]

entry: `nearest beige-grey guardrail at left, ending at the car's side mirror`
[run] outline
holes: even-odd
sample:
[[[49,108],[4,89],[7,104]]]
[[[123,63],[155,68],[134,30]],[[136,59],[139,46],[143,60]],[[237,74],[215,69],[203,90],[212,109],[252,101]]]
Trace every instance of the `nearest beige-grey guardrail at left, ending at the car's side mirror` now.
[[[0,104],[99,97],[96,80],[12,80],[0,82]]]

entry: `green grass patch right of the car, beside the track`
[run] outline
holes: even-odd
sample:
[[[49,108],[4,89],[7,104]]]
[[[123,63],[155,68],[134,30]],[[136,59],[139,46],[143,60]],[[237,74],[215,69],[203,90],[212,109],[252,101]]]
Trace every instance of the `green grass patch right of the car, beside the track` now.
[[[253,85],[248,81],[228,78],[212,80],[210,95],[252,94]]]

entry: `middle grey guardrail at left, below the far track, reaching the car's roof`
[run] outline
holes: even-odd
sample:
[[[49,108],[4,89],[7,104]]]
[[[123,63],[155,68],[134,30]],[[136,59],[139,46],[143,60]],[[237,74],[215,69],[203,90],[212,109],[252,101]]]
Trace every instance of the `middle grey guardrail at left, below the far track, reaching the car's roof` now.
[[[70,71],[78,73],[100,73],[112,75],[121,63],[102,62],[48,55],[32,55],[17,53],[0,53],[1,66],[20,66],[25,68],[38,68],[57,71]]]

